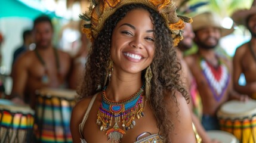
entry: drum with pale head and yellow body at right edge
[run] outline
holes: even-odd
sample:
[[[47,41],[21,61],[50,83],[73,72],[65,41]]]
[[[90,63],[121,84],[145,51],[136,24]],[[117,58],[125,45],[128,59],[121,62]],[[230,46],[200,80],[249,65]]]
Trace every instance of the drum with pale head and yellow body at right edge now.
[[[220,128],[230,132],[241,143],[256,142],[256,101],[228,101],[217,112]]]

